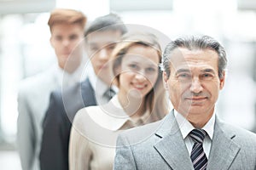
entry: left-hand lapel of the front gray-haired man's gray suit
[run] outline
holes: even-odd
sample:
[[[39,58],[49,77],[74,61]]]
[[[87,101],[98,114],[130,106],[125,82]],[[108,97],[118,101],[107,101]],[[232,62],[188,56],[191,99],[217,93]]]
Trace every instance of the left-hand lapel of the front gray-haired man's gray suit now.
[[[159,143],[154,145],[155,150],[158,151],[172,169],[193,169],[189,152],[183,141],[173,111],[165,119],[158,132],[155,133],[155,135],[162,138]]]

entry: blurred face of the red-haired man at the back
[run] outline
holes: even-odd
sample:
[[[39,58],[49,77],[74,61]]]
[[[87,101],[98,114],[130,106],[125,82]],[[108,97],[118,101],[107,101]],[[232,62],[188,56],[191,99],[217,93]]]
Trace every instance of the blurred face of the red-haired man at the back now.
[[[58,64],[73,72],[82,60],[84,30],[79,24],[55,24],[51,28],[50,43],[55,49]],[[68,61],[68,63],[67,63]]]

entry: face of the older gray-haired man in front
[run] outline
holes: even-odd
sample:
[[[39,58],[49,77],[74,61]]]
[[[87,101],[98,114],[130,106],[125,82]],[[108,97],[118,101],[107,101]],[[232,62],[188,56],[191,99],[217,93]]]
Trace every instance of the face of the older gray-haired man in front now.
[[[195,117],[200,122],[212,116],[224,87],[224,77],[218,77],[218,54],[211,49],[175,49],[170,77],[164,72],[164,80],[173,107],[191,122]]]

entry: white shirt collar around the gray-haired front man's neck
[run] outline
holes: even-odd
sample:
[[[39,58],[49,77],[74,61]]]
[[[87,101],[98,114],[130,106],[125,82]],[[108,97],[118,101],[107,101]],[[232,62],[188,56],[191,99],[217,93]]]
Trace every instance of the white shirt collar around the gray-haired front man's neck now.
[[[213,137],[215,115],[216,114],[214,111],[211,119],[207,122],[207,124],[204,127],[202,127],[202,129],[204,129],[207,132],[210,139],[212,139]],[[183,117],[182,114],[178,113],[176,110],[174,110],[174,116],[176,118],[178,127],[183,135],[183,139],[185,139],[189,135],[189,133],[193,129],[195,129],[195,127],[193,127],[193,125],[185,117]]]

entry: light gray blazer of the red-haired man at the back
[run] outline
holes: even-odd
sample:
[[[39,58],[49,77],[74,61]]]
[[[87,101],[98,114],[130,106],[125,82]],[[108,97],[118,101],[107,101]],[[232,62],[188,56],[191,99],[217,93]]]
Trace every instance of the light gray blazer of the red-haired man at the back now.
[[[49,94],[61,84],[55,67],[22,81],[18,94],[17,142],[21,167],[38,170],[42,122],[49,105]]]

